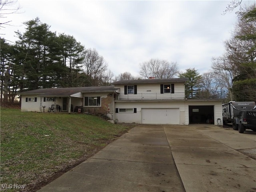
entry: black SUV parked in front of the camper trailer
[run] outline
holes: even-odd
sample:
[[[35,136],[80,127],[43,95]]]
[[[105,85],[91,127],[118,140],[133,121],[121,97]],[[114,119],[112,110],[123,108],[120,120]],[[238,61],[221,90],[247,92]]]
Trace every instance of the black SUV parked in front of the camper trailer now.
[[[238,114],[238,131],[243,133],[246,129],[256,131],[256,111],[240,111]]]

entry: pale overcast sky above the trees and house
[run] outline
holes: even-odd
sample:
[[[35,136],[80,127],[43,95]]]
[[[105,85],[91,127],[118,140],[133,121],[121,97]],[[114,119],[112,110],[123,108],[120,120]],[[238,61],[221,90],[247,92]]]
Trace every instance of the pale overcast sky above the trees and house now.
[[[242,1],[252,4],[254,1]],[[223,14],[225,1],[88,1],[18,0],[20,14],[8,15],[12,25],[1,30],[15,41],[23,22],[40,18],[52,32],[74,36],[95,48],[115,76],[139,75],[139,64],[151,58],[177,62],[179,69],[210,70],[212,58],[224,53],[237,21],[235,12]]]

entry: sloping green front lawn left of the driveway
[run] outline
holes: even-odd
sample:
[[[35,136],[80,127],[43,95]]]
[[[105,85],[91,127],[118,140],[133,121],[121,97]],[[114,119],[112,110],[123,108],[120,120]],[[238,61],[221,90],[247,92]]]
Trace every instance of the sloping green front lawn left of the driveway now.
[[[92,156],[131,127],[85,114],[9,108],[1,108],[0,112],[1,185],[26,185],[30,191],[50,176]]]

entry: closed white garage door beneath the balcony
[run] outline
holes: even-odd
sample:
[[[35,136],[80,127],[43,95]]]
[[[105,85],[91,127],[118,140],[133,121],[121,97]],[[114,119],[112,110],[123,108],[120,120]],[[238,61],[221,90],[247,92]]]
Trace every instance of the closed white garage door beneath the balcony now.
[[[178,108],[142,108],[142,124],[180,124]]]

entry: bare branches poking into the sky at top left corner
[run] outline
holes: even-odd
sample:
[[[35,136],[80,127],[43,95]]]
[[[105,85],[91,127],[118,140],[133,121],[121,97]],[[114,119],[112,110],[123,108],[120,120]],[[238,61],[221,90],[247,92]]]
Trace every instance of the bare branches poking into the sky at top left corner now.
[[[7,19],[9,14],[18,13],[20,6],[17,6],[17,2],[17,0],[0,0],[0,29],[12,22]]]

